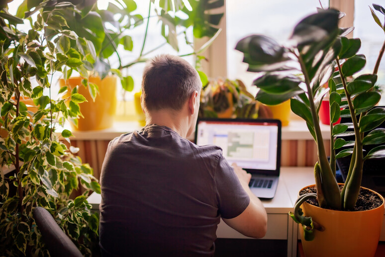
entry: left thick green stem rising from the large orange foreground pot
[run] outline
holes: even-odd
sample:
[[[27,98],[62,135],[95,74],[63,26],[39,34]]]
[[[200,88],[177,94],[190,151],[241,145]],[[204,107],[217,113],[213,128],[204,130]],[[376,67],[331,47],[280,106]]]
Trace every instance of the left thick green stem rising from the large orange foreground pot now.
[[[322,191],[324,193],[326,205],[330,208],[339,210],[341,209],[340,189],[335,177],[333,176],[333,172],[330,168],[329,161],[327,160],[325,146],[323,145],[321,128],[319,127],[318,114],[314,105],[313,94],[310,87],[310,79],[307,74],[307,70],[300,53],[297,54],[297,58],[301,66],[303,76],[305,78],[307,95],[309,98],[310,112],[313,120],[313,128],[315,132],[315,139],[316,139],[317,150],[318,150],[318,163],[321,171],[320,174],[321,174],[321,180],[322,180]]]

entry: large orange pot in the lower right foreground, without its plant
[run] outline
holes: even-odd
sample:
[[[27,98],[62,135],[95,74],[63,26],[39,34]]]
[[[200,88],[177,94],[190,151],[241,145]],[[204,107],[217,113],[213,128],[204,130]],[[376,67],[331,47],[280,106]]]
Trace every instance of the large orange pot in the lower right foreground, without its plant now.
[[[307,187],[313,186],[315,185]],[[304,202],[301,205],[304,215],[312,217],[313,221],[325,228],[325,231],[316,230],[314,232],[313,241],[305,241],[302,226],[299,225],[305,256],[373,257],[379,243],[384,219],[384,198],[380,194],[378,195],[383,200],[380,207],[358,212],[322,209]]]

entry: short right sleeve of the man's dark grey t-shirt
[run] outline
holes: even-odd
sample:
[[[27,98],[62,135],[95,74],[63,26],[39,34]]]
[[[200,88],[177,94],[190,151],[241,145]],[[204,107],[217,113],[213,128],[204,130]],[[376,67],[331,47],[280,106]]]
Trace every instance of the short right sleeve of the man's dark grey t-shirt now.
[[[250,203],[250,197],[242,188],[234,169],[220,154],[215,172],[219,213],[224,219],[240,215]]]

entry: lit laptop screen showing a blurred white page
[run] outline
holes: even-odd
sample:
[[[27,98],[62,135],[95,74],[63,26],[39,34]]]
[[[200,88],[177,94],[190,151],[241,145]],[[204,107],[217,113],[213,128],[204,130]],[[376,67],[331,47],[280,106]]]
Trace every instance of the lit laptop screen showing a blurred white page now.
[[[274,123],[199,121],[196,144],[221,147],[230,164],[245,169],[277,168],[278,126]]]

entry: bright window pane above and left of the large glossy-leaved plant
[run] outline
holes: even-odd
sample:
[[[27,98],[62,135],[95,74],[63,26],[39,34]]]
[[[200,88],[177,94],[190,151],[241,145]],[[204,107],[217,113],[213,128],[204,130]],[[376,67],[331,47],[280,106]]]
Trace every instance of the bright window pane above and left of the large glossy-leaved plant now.
[[[324,8],[328,0],[320,1]],[[278,42],[285,41],[294,25],[306,15],[316,12],[318,0],[226,0],[227,75],[241,79],[253,94],[251,83],[255,73],[247,72],[243,54],[234,50],[236,43],[250,34],[264,34]]]

